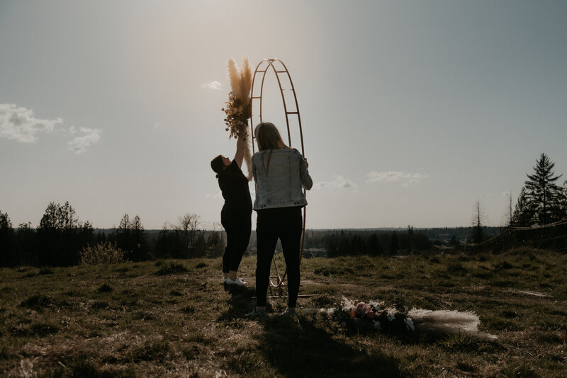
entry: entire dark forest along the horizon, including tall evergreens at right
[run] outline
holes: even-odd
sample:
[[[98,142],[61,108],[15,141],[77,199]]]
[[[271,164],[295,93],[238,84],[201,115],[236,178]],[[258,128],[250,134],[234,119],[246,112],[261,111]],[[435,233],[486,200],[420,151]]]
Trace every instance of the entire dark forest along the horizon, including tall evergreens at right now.
[[[500,251],[532,246],[567,250],[567,181],[554,173],[554,163],[541,154],[534,173],[512,208],[506,227],[483,224],[481,202],[476,202],[471,227],[414,229],[307,230],[305,256],[355,256],[422,253],[425,251]],[[0,266],[67,266],[120,260],[222,256],[225,233],[203,229],[196,214],[184,214],[175,224],[145,230],[140,217],[124,214],[113,229],[94,229],[81,222],[69,202],[50,202],[37,228],[30,223],[14,228],[9,214],[0,211]],[[252,232],[249,253],[255,253]],[[277,248],[277,247],[276,247]],[[281,247],[280,247],[281,248]]]

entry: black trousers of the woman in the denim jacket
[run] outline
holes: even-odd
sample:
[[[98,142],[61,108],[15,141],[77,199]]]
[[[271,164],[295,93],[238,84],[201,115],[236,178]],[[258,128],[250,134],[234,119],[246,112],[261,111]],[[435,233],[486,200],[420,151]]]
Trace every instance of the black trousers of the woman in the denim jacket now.
[[[257,213],[256,305],[266,306],[271,260],[280,239],[283,258],[286,259],[288,307],[296,307],[300,281],[299,251],[303,231],[301,207],[278,207],[258,210]]]

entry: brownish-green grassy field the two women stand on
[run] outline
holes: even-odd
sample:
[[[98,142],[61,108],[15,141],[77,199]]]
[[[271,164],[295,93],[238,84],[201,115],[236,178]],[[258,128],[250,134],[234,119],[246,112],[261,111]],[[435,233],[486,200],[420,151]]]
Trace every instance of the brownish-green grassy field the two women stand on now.
[[[566,377],[567,255],[303,259],[303,309],[342,295],[424,309],[476,311],[498,336],[348,333],[299,311],[266,319],[220,259],[0,270],[1,377]]]

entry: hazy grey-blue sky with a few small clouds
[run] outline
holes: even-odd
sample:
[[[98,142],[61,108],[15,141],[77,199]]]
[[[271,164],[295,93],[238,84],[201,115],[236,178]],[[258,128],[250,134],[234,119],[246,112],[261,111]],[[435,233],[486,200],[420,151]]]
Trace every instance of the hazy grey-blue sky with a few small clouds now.
[[[248,57],[293,79],[308,229],[466,227],[477,201],[505,224],[540,154],[567,173],[566,18],[565,1],[0,0],[0,211],[218,227],[226,62]],[[284,130],[275,80],[263,120]]]

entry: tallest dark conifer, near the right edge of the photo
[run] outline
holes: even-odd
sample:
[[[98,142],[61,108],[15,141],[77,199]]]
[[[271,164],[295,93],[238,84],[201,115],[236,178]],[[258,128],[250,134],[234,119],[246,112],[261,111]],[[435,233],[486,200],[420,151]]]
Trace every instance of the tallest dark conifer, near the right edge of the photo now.
[[[533,217],[529,224],[521,224],[522,226],[549,224],[567,217],[563,206],[565,191],[555,183],[563,175],[555,176],[554,166],[555,163],[550,161],[546,154],[541,154],[534,166],[534,174],[527,175],[529,180],[525,182],[522,199],[526,202],[523,209],[527,210],[527,214],[522,218],[529,219],[532,211]],[[518,202],[520,203],[520,198]]]

